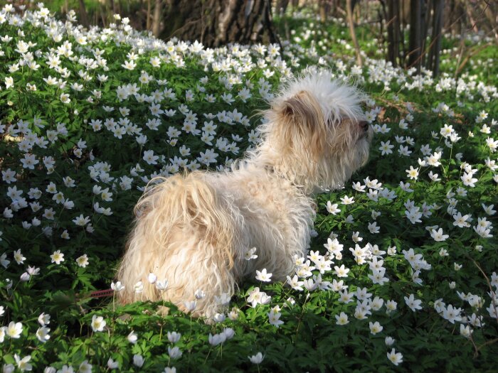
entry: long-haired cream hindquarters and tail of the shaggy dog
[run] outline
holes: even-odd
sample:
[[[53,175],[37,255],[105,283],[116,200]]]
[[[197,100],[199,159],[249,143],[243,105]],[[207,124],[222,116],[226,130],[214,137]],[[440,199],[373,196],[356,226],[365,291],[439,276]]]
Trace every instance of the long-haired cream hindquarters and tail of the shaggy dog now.
[[[164,299],[183,308],[201,289],[206,298],[196,311],[206,314],[214,310],[202,310],[204,303],[233,293],[236,226],[230,202],[216,193],[206,175],[174,175],[147,187],[135,207],[137,218],[117,275],[124,285],[122,303]],[[166,290],[149,283],[149,273],[169,281]],[[137,293],[139,281],[143,290]]]

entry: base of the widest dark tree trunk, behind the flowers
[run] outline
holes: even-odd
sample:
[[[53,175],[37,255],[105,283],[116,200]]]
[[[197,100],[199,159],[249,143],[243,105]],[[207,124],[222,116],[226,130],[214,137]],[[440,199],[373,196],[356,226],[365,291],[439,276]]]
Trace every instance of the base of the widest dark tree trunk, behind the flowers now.
[[[278,43],[270,0],[169,0],[161,38],[227,43]]]

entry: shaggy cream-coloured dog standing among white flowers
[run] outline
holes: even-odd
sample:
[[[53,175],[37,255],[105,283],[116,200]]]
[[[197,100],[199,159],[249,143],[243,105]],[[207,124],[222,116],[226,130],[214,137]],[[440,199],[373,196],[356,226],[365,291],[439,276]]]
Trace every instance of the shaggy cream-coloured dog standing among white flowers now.
[[[372,131],[363,100],[330,72],[308,73],[272,99],[262,141],[231,171],[149,185],[117,275],[120,301],[170,301],[211,318],[256,270],[285,280],[307,254],[312,195],[340,188],[366,163]],[[246,260],[254,247],[257,257]]]

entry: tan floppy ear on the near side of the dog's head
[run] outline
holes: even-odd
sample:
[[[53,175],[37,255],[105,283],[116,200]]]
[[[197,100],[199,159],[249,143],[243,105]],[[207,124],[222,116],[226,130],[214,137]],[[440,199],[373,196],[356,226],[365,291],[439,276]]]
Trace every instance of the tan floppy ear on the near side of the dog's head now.
[[[277,136],[282,151],[303,153],[318,161],[327,144],[327,127],[317,99],[301,91],[282,103],[279,117]]]

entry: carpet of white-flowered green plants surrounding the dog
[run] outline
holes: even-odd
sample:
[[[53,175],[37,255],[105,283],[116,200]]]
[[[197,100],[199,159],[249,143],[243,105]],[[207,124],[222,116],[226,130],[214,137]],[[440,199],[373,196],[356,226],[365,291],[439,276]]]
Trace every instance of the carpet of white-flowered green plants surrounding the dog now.
[[[340,31],[309,23],[282,45],[216,50],[127,23],[0,11],[4,372],[495,369],[498,93],[482,72],[497,48],[433,78],[378,59],[374,41],[356,66]],[[258,143],[253,114],[280,82],[321,67],[371,96],[376,136],[369,163],[317,195],[316,237],[287,283],[245,283],[211,323],[90,296],[120,291],[149,180],[228,167]]]

